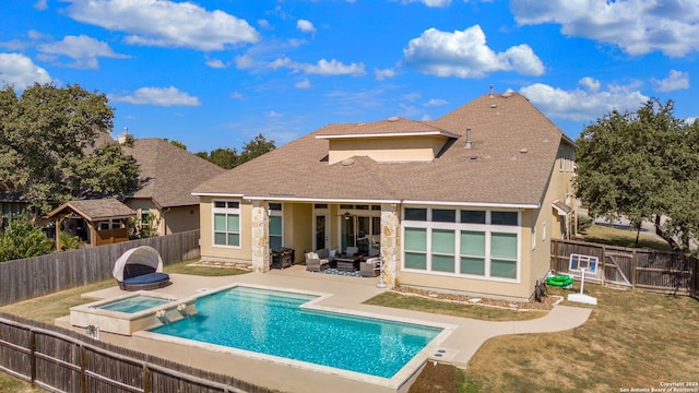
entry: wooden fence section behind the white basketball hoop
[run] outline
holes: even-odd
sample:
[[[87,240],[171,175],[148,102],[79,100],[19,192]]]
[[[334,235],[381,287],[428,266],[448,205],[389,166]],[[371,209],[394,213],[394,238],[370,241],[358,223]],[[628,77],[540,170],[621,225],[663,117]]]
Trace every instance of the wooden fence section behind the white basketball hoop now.
[[[635,289],[699,295],[699,260],[682,252],[631,249],[576,240],[552,239],[550,269],[570,272],[570,254],[597,257],[600,274],[585,274],[585,281]]]

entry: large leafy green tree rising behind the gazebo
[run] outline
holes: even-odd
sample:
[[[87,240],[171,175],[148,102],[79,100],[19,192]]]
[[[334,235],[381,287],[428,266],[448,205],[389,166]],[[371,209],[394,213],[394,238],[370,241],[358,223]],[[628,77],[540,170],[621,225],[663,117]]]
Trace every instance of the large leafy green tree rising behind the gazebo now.
[[[111,130],[112,118],[104,94],[79,85],[35,84],[21,96],[3,88],[0,179],[39,213],[47,212],[50,202],[128,193],[138,179],[133,159],[118,144],[95,148],[95,140]]]

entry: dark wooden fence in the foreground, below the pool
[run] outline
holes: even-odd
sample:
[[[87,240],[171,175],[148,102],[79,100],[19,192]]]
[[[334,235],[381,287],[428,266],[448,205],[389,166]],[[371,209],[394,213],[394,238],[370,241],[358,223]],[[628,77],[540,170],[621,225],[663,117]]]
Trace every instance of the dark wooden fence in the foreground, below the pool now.
[[[272,393],[233,377],[0,313],[0,371],[51,392]]]

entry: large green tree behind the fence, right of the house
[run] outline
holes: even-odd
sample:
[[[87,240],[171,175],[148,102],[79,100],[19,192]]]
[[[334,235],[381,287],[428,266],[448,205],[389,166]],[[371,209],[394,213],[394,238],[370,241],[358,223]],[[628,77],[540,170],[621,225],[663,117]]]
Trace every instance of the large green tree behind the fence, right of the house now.
[[[636,112],[615,110],[588,126],[576,141],[576,186],[592,216],[626,216],[638,230],[654,221],[674,249],[688,250],[699,214],[687,209],[696,207],[691,195],[699,193],[699,126],[673,110],[672,100],[651,99]]]

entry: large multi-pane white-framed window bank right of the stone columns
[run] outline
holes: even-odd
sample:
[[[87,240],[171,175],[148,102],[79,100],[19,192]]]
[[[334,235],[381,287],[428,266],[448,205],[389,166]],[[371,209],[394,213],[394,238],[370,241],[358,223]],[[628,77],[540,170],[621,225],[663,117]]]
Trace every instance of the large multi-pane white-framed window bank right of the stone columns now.
[[[518,279],[519,219],[516,211],[406,207],[403,267]]]

